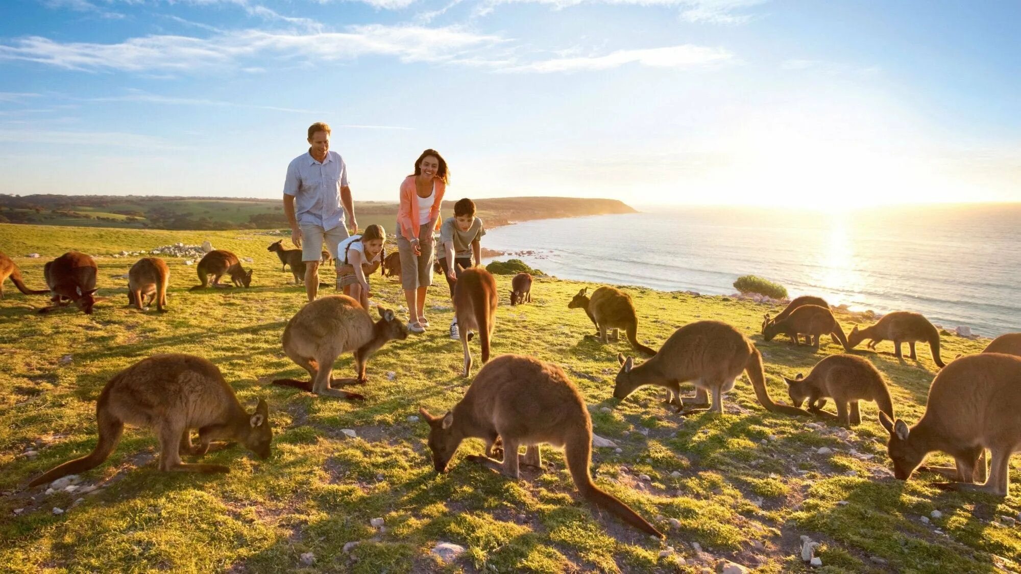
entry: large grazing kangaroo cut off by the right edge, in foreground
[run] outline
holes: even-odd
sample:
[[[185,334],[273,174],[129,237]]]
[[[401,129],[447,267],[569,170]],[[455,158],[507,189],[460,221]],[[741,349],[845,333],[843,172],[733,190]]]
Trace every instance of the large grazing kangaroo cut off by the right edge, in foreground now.
[[[929,386],[925,414],[911,428],[901,419],[880,413],[879,421],[890,433],[886,445],[893,474],[907,480],[926,455],[942,451],[956,468],[931,468],[957,482],[938,486],[976,490],[1006,497],[1011,455],[1021,447],[1021,357],[980,353],[956,359]],[[980,455],[992,453],[988,479]],[[981,463],[981,464],[976,464]]]

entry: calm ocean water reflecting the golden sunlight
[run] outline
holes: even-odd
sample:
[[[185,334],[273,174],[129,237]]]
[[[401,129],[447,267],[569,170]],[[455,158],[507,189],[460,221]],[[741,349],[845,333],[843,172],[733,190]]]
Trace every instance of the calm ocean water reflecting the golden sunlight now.
[[[667,207],[525,221],[483,247],[545,273],[704,295],[753,274],[877,313],[916,311],[954,329],[1021,330],[1021,204],[884,207],[837,213]],[[489,259],[487,259],[488,261]]]

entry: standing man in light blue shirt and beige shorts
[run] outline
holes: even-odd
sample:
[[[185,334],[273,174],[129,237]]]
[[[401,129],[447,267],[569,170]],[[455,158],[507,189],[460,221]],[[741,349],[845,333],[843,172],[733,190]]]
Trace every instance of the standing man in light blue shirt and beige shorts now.
[[[287,166],[284,180],[284,213],[291,224],[291,242],[301,248],[305,263],[305,295],[315,300],[319,292],[319,264],[323,247],[337,260],[337,244],[358,228],[354,220],[351,189],[347,187],[347,166],[340,154],[330,151],[330,126],[322,121],[308,126],[308,153]]]

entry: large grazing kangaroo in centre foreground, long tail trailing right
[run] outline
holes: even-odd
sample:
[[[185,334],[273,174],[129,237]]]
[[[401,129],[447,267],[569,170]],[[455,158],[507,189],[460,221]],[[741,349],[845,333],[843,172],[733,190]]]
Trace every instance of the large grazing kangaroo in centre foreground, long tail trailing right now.
[[[520,478],[518,448],[526,447],[524,463],[541,468],[539,446],[564,448],[568,469],[578,491],[600,509],[616,514],[639,530],[663,534],[630,507],[592,482],[592,420],[585,399],[564,370],[522,355],[501,355],[482,367],[465,398],[443,416],[419,409],[429,423],[429,449],[436,472],[447,471],[465,438],[481,438],[486,456],[470,456],[512,478]],[[493,443],[503,441],[503,461],[492,456]]]

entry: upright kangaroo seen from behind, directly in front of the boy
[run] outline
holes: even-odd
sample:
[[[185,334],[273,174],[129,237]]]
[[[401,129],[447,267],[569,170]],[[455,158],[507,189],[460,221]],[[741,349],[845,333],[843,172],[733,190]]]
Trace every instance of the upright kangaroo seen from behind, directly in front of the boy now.
[[[482,364],[489,360],[489,344],[496,324],[496,279],[481,267],[465,269],[453,288],[453,312],[459,325],[460,345],[465,351],[464,376],[472,372],[472,353],[468,350],[469,332],[479,331]]]

